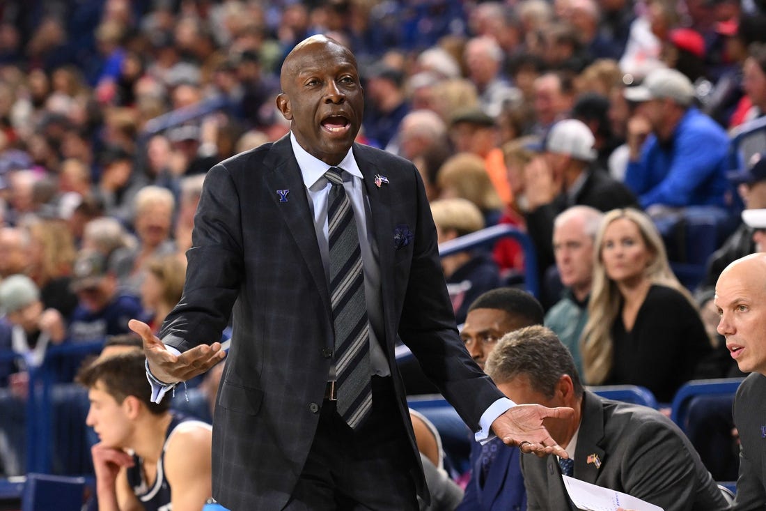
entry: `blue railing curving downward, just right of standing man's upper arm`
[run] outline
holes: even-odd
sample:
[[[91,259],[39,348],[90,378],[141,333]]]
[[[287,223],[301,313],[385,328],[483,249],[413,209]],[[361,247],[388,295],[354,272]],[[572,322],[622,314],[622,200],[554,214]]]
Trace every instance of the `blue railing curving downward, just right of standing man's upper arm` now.
[[[450,239],[450,241],[439,245],[439,255],[452,255],[456,252],[463,252],[469,249],[476,249],[481,246],[491,246],[501,238],[516,239],[524,251],[524,287],[535,297],[540,295],[540,286],[537,274],[537,255],[535,246],[532,244],[532,238],[517,227],[501,224],[492,227],[486,227],[480,231],[471,232],[460,238]]]

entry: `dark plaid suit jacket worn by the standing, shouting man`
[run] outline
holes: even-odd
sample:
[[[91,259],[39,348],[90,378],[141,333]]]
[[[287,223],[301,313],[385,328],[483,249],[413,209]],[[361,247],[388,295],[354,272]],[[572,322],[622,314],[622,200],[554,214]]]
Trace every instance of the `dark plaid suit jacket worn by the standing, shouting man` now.
[[[391,420],[407,425],[419,466],[394,360],[399,336],[473,430],[502,394],[458,337],[417,169],[372,147],[353,151],[378,245],[380,341],[400,401]],[[375,186],[376,174],[388,183]],[[286,202],[277,190],[290,190]],[[214,414],[214,496],[230,509],[281,509],[313,441],[333,342],[325,272],[289,136],[208,172],[187,256],[184,294],[160,338],[185,351],[218,340],[230,312],[234,321]],[[412,476],[425,496],[421,471]]]

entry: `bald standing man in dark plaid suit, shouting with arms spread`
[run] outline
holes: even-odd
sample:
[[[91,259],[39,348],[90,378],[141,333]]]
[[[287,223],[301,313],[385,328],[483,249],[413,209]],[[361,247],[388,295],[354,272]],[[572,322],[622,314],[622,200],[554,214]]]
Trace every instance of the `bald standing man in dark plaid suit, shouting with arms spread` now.
[[[132,323],[160,389],[223,357],[208,343],[232,314],[215,498],[231,509],[417,509],[427,492],[394,363],[400,336],[477,437],[565,455],[542,420],[571,410],[513,406],[463,348],[417,169],[354,142],[353,54],[308,38],[286,57],[281,87],[290,136],[208,172],[181,302],[159,338]]]

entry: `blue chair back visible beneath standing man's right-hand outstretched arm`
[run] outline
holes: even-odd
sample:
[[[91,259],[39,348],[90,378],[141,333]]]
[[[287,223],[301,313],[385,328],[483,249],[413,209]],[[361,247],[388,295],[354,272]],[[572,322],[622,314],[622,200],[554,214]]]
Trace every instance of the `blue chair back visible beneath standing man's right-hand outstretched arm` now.
[[[473,434],[452,405],[441,394],[409,396],[407,402],[409,407],[423,414],[439,431],[447,472],[460,475],[470,470]]]

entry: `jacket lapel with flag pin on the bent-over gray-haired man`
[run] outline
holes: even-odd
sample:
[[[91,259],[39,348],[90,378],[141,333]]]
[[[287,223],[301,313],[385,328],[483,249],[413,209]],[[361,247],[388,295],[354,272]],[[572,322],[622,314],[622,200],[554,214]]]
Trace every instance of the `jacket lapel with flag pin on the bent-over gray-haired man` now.
[[[583,394],[583,414],[575,448],[575,477],[588,483],[596,484],[601,465],[606,461],[606,453],[601,448],[604,438],[604,407],[596,394],[585,391]],[[590,460],[590,463],[588,463]],[[596,461],[598,460],[598,462]]]

